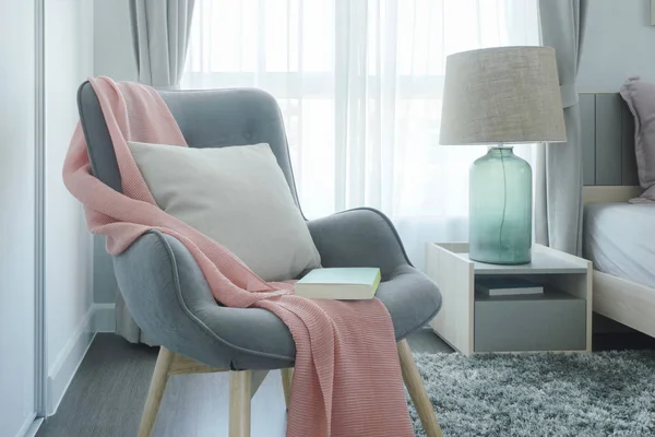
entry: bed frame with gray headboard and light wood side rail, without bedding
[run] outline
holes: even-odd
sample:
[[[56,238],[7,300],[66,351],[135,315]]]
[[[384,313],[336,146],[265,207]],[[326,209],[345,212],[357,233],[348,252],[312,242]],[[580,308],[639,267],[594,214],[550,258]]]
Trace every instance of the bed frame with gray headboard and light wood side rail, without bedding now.
[[[634,122],[618,93],[580,93],[584,204],[639,197]],[[655,265],[653,267],[655,268]],[[594,270],[594,311],[655,336],[655,288]]]

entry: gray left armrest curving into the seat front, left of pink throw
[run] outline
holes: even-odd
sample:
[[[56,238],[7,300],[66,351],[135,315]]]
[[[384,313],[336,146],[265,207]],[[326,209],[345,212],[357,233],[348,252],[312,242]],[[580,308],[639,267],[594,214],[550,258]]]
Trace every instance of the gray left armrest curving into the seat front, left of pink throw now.
[[[114,257],[122,296],[136,323],[167,349],[213,367],[284,368],[296,346],[273,312],[227,308],[214,299],[193,256],[158,231]]]

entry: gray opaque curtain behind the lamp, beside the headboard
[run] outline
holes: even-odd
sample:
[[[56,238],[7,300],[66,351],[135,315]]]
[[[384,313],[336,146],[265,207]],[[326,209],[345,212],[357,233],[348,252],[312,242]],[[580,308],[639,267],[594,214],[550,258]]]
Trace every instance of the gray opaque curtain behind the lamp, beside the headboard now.
[[[575,76],[587,5],[588,0],[539,0],[541,42],[556,50],[568,141],[539,149],[535,239],[573,255],[582,252],[582,145]]]

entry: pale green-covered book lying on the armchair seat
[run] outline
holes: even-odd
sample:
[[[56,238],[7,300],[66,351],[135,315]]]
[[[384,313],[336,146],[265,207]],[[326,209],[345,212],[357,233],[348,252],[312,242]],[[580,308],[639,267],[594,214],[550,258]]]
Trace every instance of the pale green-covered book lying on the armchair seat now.
[[[312,299],[372,299],[380,280],[377,268],[314,269],[296,282],[295,293]]]

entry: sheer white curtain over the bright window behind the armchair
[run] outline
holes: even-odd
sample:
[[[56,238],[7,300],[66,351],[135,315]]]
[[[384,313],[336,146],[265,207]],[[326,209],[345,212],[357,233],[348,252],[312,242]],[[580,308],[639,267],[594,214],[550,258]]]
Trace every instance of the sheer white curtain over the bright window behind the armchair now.
[[[181,87],[273,94],[306,216],[378,208],[421,267],[466,240],[485,153],[438,145],[445,57],[538,44],[536,0],[196,0]]]

